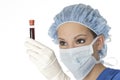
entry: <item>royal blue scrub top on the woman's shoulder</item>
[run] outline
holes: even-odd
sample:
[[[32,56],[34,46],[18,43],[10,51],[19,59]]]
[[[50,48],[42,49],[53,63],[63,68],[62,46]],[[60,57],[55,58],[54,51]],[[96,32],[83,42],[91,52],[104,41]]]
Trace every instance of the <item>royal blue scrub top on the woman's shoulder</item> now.
[[[120,80],[120,70],[106,68],[98,76],[97,80]]]

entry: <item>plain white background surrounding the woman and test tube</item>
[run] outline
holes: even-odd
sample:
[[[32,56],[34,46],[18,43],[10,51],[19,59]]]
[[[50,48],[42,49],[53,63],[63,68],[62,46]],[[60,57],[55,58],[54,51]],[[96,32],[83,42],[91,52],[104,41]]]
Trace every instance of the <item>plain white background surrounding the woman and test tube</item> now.
[[[107,57],[115,59],[105,60],[120,69],[119,0],[0,0],[0,80],[45,80],[26,54],[24,42],[29,37],[28,21],[35,19],[36,40],[58,54],[57,46],[47,34],[48,28],[63,7],[76,3],[97,8],[107,19],[112,28]]]

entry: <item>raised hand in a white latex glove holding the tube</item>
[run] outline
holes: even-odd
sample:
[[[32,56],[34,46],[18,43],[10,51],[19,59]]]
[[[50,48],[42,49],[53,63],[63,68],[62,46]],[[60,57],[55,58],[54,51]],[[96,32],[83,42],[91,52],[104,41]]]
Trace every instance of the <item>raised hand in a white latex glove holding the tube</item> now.
[[[35,63],[40,72],[49,80],[69,80],[69,77],[62,71],[54,51],[45,45],[33,39],[27,39],[25,42],[27,53],[30,59]],[[61,77],[58,79],[58,77]]]

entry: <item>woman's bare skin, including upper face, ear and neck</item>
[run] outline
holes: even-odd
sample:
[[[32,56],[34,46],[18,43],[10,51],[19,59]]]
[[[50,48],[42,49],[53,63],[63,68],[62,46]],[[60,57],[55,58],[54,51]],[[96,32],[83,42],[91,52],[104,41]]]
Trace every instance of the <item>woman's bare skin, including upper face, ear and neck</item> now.
[[[57,34],[59,47],[62,49],[89,45],[94,40],[93,34],[87,27],[74,22],[68,22],[60,25]],[[99,38],[93,44],[93,56],[96,58],[96,60],[99,60],[98,51],[102,49],[103,44],[104,36],[99,35]],[[103,64],[96,64],[84,80],[96,80],[104,69],[105,66],[103,66]]]

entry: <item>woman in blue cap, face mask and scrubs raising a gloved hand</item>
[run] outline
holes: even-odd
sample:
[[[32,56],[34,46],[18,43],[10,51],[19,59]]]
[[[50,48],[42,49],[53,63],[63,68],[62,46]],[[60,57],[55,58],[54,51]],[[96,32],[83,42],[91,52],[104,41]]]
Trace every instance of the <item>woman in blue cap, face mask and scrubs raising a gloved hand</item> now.
[[[72,72],[76,80],[120,80],[120,70],[107,68],[101,61],[106,56],[105,40],[109,37],[110,27],[98,10],[84,4],[70,5],[57,14],[54,20],[48,34],[56,44],[59,44],[61,61]],[[39,42],[30,39],[26,43],[32,44],[28,47],[37,46],[37,49],[32,47],[28,51],[32,58],[34,57],[34,62],[44,63],[39,60],[42,58],[40,55],[47,55],[49,57],[47,65],[50,66],[53,63],[59,65],[53,58],[55,55],[51,49],[43,47],[44,45],[41,48]],[[49,72],[46,76],[49,80],[69,80],[70,78],[65,75],[60,66],[56,69],[55,64],[52,66],[54,66],[55,73],[59,73],[57,78],[54,78],[55,74],[50,76],[50,72],[53,72],[50,71],[51,69],[45,71],[48,67],[39,67],[40,71],[45,76],[46,72]]]

